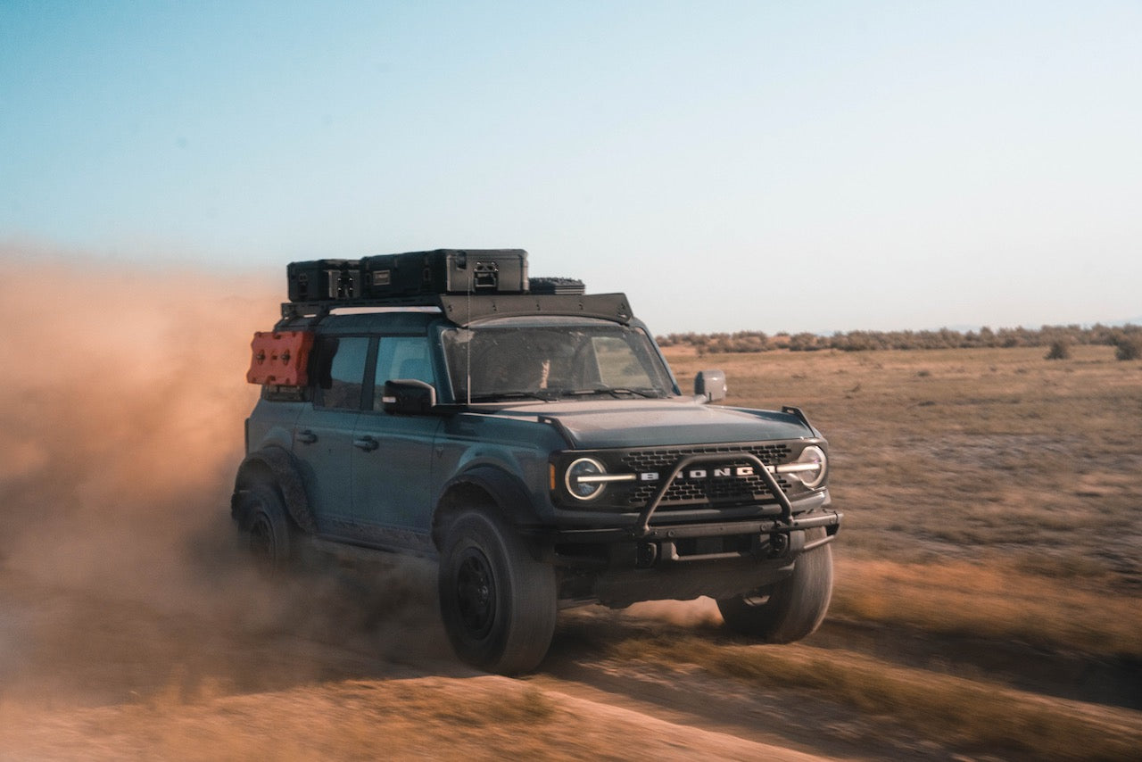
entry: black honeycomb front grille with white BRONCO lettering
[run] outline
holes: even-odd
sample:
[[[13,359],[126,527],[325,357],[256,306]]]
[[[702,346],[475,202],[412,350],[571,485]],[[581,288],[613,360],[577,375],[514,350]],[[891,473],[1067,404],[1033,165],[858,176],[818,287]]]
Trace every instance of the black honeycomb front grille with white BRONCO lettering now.
[[[669,475],[674,465],[679,458],[687,455],[721,455],[725,454],[722,466],[751,465],[747,460],[734,458],[734,454],[749,452],[756,456],[767,466],[785,463],[789,459],[791,449],[788,444],[714,444],[708,447],[668,448],[654,450],[632,450],[624,455],[621,463],[625,470],[636,473],[657,471],[661,479]],[[705,466],[703,466],[705,467]],[[775,476],[778,486],[782,492],[789,492],[789,482],[782,476]],[[616,490],[612,499],[616,503],[626,504],[632,507],[643,507],[654,496],[659,484],[637,483]],[[686,479],[679,475],[670,484],[660,511],[681,510],[695,505],[727,505],[735,503],[758,503],[772,500],[765,481],[761,475],[733,476],[726,479]]]

